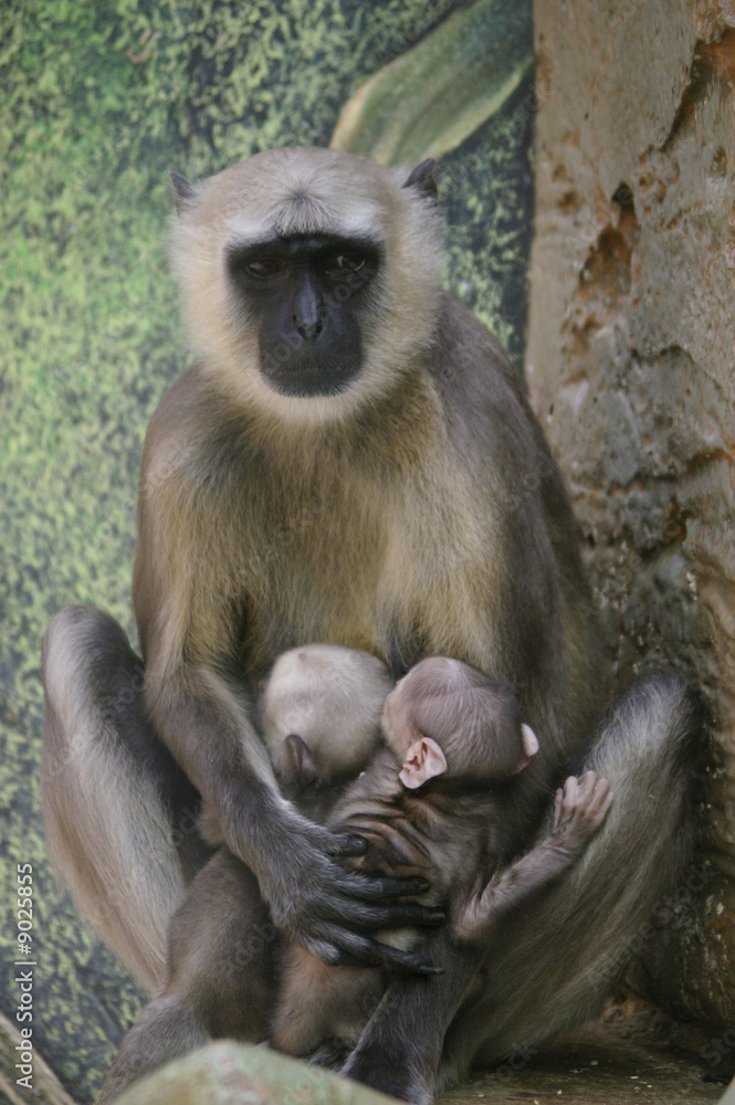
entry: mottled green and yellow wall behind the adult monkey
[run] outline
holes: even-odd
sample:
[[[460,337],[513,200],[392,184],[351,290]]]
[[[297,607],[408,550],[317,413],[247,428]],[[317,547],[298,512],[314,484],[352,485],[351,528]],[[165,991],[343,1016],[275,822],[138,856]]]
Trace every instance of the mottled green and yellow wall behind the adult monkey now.
[[[510,0],[513,3],[513,0]],[[141,993],[55,888],[40,644],[71,602],[133,632],[146,424],[186,366],[166,177],[328,144],[343,103],[452,0],[15,0],[0,9],[0,1008],[18,1001],[15,864],[34,867],[34,1042],[88,1101]],[[458,76],[461,78],[461,75]],[[533,96],[443,159],[447,284],[521,362]],[[101,796],[104,802],[104,796]]]

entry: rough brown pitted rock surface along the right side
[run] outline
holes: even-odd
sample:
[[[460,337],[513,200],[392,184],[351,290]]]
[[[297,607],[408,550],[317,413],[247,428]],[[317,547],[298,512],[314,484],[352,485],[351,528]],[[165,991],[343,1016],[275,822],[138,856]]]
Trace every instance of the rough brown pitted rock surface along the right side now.
[[[527,377],[620,683],[694,671],[700,854],[636,985],[735,1014],[735,3],[536,3]]]

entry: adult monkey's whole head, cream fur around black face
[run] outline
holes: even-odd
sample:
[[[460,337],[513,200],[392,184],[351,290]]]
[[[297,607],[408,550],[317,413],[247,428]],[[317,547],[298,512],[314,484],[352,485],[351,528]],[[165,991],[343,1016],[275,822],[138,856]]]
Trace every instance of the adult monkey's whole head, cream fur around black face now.
[[[290,147],[172,183],[199,370],[251,432],[345,425],[423,358],[441,253],[422,172]]]

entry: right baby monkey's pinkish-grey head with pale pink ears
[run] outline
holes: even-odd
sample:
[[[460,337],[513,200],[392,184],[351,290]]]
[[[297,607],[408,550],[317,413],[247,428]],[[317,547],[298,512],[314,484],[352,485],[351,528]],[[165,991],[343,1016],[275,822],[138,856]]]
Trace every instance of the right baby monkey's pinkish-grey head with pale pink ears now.
[[[422,660],[400,680],[386,699],[382,728],[409,789],[440,775],[501,782],[538,751],[511,688],[445,656]]]

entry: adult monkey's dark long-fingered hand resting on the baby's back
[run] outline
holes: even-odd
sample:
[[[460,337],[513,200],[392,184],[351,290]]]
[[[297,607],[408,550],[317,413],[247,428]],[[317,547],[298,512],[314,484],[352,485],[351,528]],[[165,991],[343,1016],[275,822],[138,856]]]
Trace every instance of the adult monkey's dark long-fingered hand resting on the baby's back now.
[[[420,950],[402,951],[369,935],[379,929],[437,927],[445,920],[442,909],[406,901],[429,890],[424,878],[345,871],[338,861],[365,851],[360,836],[337,835],[303,818],[296,833],[292,825],[281,829],[277,859],[258,872],[279,928],[325,964],[437,974]]]

